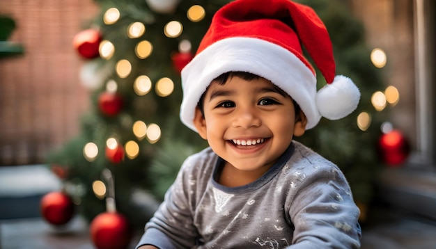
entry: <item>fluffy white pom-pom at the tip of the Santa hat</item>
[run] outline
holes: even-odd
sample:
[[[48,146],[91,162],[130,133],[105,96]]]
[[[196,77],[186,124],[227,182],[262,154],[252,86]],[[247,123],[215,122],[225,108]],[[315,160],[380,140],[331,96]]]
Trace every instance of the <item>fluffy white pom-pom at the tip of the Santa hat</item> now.
[[[320,114],[329,120],[338,120],[349,115],[359,104],[360,92],[348,77],[338,75],[316,94],[316,106]]]

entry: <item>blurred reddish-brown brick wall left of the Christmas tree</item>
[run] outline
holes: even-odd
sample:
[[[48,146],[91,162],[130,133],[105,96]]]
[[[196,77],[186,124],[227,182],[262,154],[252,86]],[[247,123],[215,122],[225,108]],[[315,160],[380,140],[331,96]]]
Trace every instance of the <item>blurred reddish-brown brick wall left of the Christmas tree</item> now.
[[[42,163],[78,134],[89,97],[71,44],[97,13],[92,0],[0,1],[0,14],[17,23],[9,40],[25,48],[0,59],[0,165]]]

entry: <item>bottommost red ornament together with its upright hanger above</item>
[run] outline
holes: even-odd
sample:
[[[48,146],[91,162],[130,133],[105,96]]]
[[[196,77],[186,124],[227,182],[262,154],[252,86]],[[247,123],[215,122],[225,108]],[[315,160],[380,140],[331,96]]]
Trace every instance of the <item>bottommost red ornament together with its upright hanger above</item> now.
[[[108,195],[106,209],[102,214],[95,216],[90,225],[91,239],[98,249],[123,249],[127,248],[132,239],[132,230],[127,218],[116,211],[114,198],[114,179],[111,171],[103,170],[106,178]]]

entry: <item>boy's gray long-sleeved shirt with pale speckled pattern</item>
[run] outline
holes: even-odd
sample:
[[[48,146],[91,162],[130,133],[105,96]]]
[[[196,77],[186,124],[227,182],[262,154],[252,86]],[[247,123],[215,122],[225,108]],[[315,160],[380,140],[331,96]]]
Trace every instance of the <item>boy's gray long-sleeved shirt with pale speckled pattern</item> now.
[[[235,188],[215,180],[222,162],[210,148],[187,158],[138,247],[360,247],[359,209],[332,162],[293,141],[260,179]]]

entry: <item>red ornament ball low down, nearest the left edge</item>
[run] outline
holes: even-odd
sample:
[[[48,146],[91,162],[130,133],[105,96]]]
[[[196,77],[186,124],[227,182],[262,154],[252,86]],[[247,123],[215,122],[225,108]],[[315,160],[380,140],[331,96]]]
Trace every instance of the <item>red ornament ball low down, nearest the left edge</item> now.
[[[62,192],[51,192],[44,195],[40,203],[42,218],[52,225],[64,225],[71,220],[74,204],[70,196]]]

